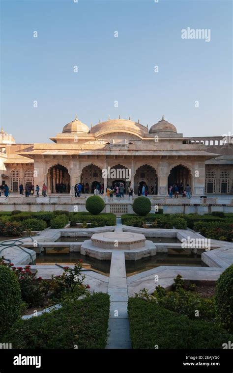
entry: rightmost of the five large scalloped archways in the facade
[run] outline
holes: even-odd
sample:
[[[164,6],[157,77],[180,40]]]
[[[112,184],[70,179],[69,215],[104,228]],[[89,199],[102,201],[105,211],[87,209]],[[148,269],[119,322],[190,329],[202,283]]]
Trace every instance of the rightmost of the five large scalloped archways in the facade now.
[[[191,187],[192,192],[192,175],[190,169],[182,164],[173,167],[168,177],[168,190],[171,185],[177,185],[178,187],[182,187],[183,185],[183,189],[185,189],[187,184]]]

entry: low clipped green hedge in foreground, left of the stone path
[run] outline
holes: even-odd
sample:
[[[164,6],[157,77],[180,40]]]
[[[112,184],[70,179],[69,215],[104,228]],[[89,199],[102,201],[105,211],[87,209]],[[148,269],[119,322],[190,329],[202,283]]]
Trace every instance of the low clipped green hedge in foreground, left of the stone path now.
[[[109,295],[95,293],[67,302],[56,311],[17,321],[5,340],[12,342],[14,348],[103,349],[109,308]]]

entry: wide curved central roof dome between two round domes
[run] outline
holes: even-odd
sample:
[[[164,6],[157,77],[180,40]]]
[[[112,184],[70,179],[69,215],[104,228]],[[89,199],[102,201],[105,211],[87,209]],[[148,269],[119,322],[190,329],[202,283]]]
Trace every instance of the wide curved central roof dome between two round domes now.
[[[96,124],[90,130],[90,133],[96,136],[114,132],[134,133],[142,136],[148,135],[148,129],[145,126],[130,119],[109,119]]]

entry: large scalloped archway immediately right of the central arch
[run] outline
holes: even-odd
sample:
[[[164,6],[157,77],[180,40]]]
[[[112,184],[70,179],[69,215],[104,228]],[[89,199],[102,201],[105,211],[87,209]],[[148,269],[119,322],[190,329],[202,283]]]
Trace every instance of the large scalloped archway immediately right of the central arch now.
[[[142,188],[145,184],[149,194],[158,193],[158,177],[156,170],[149,164],[144,164],[139,167],[134,177],[135,190],[137,190],[139,185]]]

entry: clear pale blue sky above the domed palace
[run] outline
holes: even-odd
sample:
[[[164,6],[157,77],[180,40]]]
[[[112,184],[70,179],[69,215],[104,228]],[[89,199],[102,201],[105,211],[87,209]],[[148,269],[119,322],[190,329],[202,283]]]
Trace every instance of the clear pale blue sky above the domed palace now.
[[[17,142],[50,142],[75,113],[88,126],[164,114],[187,136],[233,131],[232,1],[0,2],[1,125]],[[181,39],[187,27],[210,42]]]

